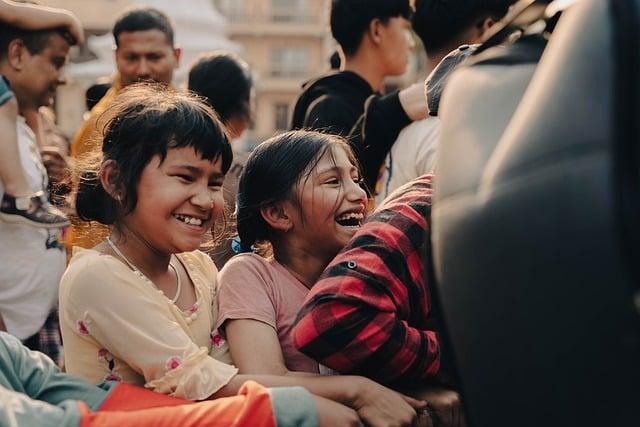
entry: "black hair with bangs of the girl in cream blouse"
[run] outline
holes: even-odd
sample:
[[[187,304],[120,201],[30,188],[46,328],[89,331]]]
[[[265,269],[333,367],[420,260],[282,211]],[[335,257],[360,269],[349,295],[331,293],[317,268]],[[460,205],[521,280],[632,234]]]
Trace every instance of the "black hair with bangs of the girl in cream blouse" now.
[[[143,169],[156,155],[164,161],[171,148],[193,147],[207,160],[220,157],[223,173],[233,160],[224,127],[213,110],[195,96],[164,85],[128,86],[100,121],[105,122],[102,156],[92,167],[80,171],[76,194],[76,212],[85,221],[112,225],[132,212]],[[111,178],[119,201],[100,183],[99,166],[107,160],[117,165]]]

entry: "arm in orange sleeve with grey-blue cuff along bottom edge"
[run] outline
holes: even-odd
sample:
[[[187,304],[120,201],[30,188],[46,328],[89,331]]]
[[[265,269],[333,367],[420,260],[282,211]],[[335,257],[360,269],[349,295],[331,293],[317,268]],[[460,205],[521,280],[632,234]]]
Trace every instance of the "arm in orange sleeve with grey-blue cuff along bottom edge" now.
[[[104,409],[83,411],[82,426],[317,427],[354,425],[350,423],[358,420],[354,411],[337,403],[327,407],[323,399],[300,387],[266,389],[247,382],[235,396],[189,405],[181,399],[167,402],[166,397],[158,396],[161,395],[120,384],[109,395]]]

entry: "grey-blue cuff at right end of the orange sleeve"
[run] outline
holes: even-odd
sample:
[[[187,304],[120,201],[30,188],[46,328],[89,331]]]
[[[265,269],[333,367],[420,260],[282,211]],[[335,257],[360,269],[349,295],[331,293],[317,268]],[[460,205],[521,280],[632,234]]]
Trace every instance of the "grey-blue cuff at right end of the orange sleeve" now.
[[[311,394],[302,387],[269,389],[278,427],[317,427],[318,412]]]

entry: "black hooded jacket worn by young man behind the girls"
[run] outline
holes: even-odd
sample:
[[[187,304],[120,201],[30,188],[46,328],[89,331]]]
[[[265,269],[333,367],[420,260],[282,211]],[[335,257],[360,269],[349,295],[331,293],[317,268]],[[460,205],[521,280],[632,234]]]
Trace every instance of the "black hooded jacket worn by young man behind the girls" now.
[[[380,167],[398,134],[410,123],[398,92],[381,95],[351,71],[331,72],[305,83],[293,110],[292,129],[326,131],[346,137],[373,189]]]

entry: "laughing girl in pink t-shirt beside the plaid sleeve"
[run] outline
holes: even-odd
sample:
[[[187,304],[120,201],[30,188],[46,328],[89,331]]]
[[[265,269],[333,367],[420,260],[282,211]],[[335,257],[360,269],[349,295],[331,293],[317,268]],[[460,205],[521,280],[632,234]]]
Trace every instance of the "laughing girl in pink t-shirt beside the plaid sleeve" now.
[[[320,273],[364,219],[367,195],[344,139],[296,131],[264,142],[240,179],[238,232],[245,250],[220,273],[220,315],[241,373],[319,373],[291,328]]]

